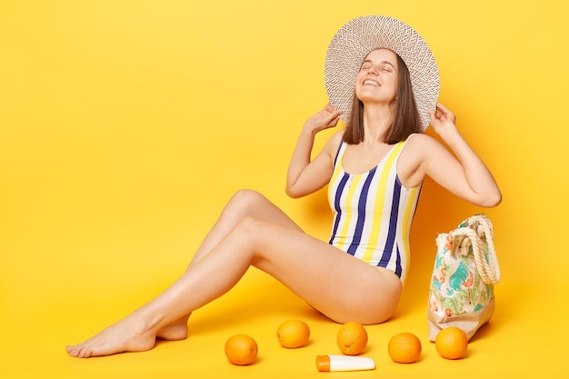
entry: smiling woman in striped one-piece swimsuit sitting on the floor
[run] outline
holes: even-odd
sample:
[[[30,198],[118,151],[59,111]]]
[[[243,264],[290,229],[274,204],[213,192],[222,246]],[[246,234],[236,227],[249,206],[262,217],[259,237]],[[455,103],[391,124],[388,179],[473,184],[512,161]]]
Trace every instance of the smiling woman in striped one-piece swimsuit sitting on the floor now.
[[[398,20],[366,17],[356,20],[414,32]],[[361,28],[350,33],[361,34]],[[355,83],[352,107],[341,111],[327,105],[310,117],[289,165],[286,193],[292,197],[330,184],[334,225],[329,243],[304,234],[261,194],[240,191],[205,236],[185,274],[125,319],[82,344],[67,346],[68,354],[145,351],[154,347],[157,338],[184,339],[190,314],[225,294],[252,265],[336,322],[378,324],[394,313],[424,177],[431,176],[451,193],[480,206],[499,204],[501,194],[484,163],[458,133],[450,111],[439,104],[426,117],[421,115],[425,102],[412,90],[416,84],[410,75],[416,68],[412,61],[404,62],[400,57],[404,52],[395,54],[397,46],[372,46],[364,63],[355,68],[354,79],[349,79]],[[438,72],[434,76],[431,88],[438,93]],[[329,95],[331,102],[344,106],[341,96]],[[346,130],[334,134],[311,160],[314,135],[348,114]],[[456,157],[420,133],[428,123]],[[217,280],[208,280],[214,275]]]

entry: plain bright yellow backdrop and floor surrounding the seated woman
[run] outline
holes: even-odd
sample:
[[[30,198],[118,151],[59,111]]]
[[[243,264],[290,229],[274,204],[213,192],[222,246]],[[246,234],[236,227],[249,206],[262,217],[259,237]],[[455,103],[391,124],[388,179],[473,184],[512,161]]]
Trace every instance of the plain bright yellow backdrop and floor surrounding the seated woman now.
[[[503,204],[486,213],[503,280],[466,358],[439,357],[426,326],[434,238],[483,209],[427,181],[404,298],[393,320],[367,328],[377,368],[336,375],[566,376],[568,11],[562,0],[2,0],[0,376],[326,376],[314,357],[338,354],[338,325],[255,270],[195,312],[184,342],[89,360],[64,348],[181,274],[237,189],[326,238],[324,192],[288,199],[284,175],[304,120],[327,101],[328,42],[370,14],[424,36],[441,102],[501,185]],[[288,318],[311,326],[303,349],[276,342]],[[416,364],[389,359],[399,332],[421,338]],[[237,333],[257,340],[256,364],[227,363]]]

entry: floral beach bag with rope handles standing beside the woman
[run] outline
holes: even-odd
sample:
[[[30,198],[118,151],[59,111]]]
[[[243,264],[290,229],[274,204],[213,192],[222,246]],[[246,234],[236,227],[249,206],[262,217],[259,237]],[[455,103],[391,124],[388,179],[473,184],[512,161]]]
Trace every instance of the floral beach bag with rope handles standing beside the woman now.
[[[429,339],[449,326],[472,338],[494,314],[494,284],[500,268],[494,252],[493,226],[474,214],[450,233],[438,234],[428,304]]]

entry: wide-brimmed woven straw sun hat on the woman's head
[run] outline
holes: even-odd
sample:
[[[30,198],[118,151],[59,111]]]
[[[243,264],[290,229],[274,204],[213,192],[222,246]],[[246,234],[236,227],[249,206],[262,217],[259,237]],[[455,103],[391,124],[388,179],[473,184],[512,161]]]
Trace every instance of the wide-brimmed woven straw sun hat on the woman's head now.
[[[355,18],[334,35],[328,46],[324,83],[330,104],[341,110],[347,123],[352,109],[355,76],[366,55],[378,48],[401,56],[409,69],[421,128],[430,124],[429,110],[434,110],[439,96],[439,69],[429,46],[411,26],[384,15]]]

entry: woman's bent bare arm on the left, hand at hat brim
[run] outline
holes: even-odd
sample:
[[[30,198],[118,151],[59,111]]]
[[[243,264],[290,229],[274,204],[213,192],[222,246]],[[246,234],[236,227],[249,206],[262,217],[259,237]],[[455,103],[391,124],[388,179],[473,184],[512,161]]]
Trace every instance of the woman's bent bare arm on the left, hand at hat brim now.
[[[328,104],[323,110],[306,120],[288,165],[285,191],[289,196],[302,197],[312,194],[330,181],[334,170],[334,144],[337,148],[341,134],[335,134],[314,160],[311,161],[310,158],[314,136],[324,129],[337,125],[340,115],[340,111],[334,111]]]

